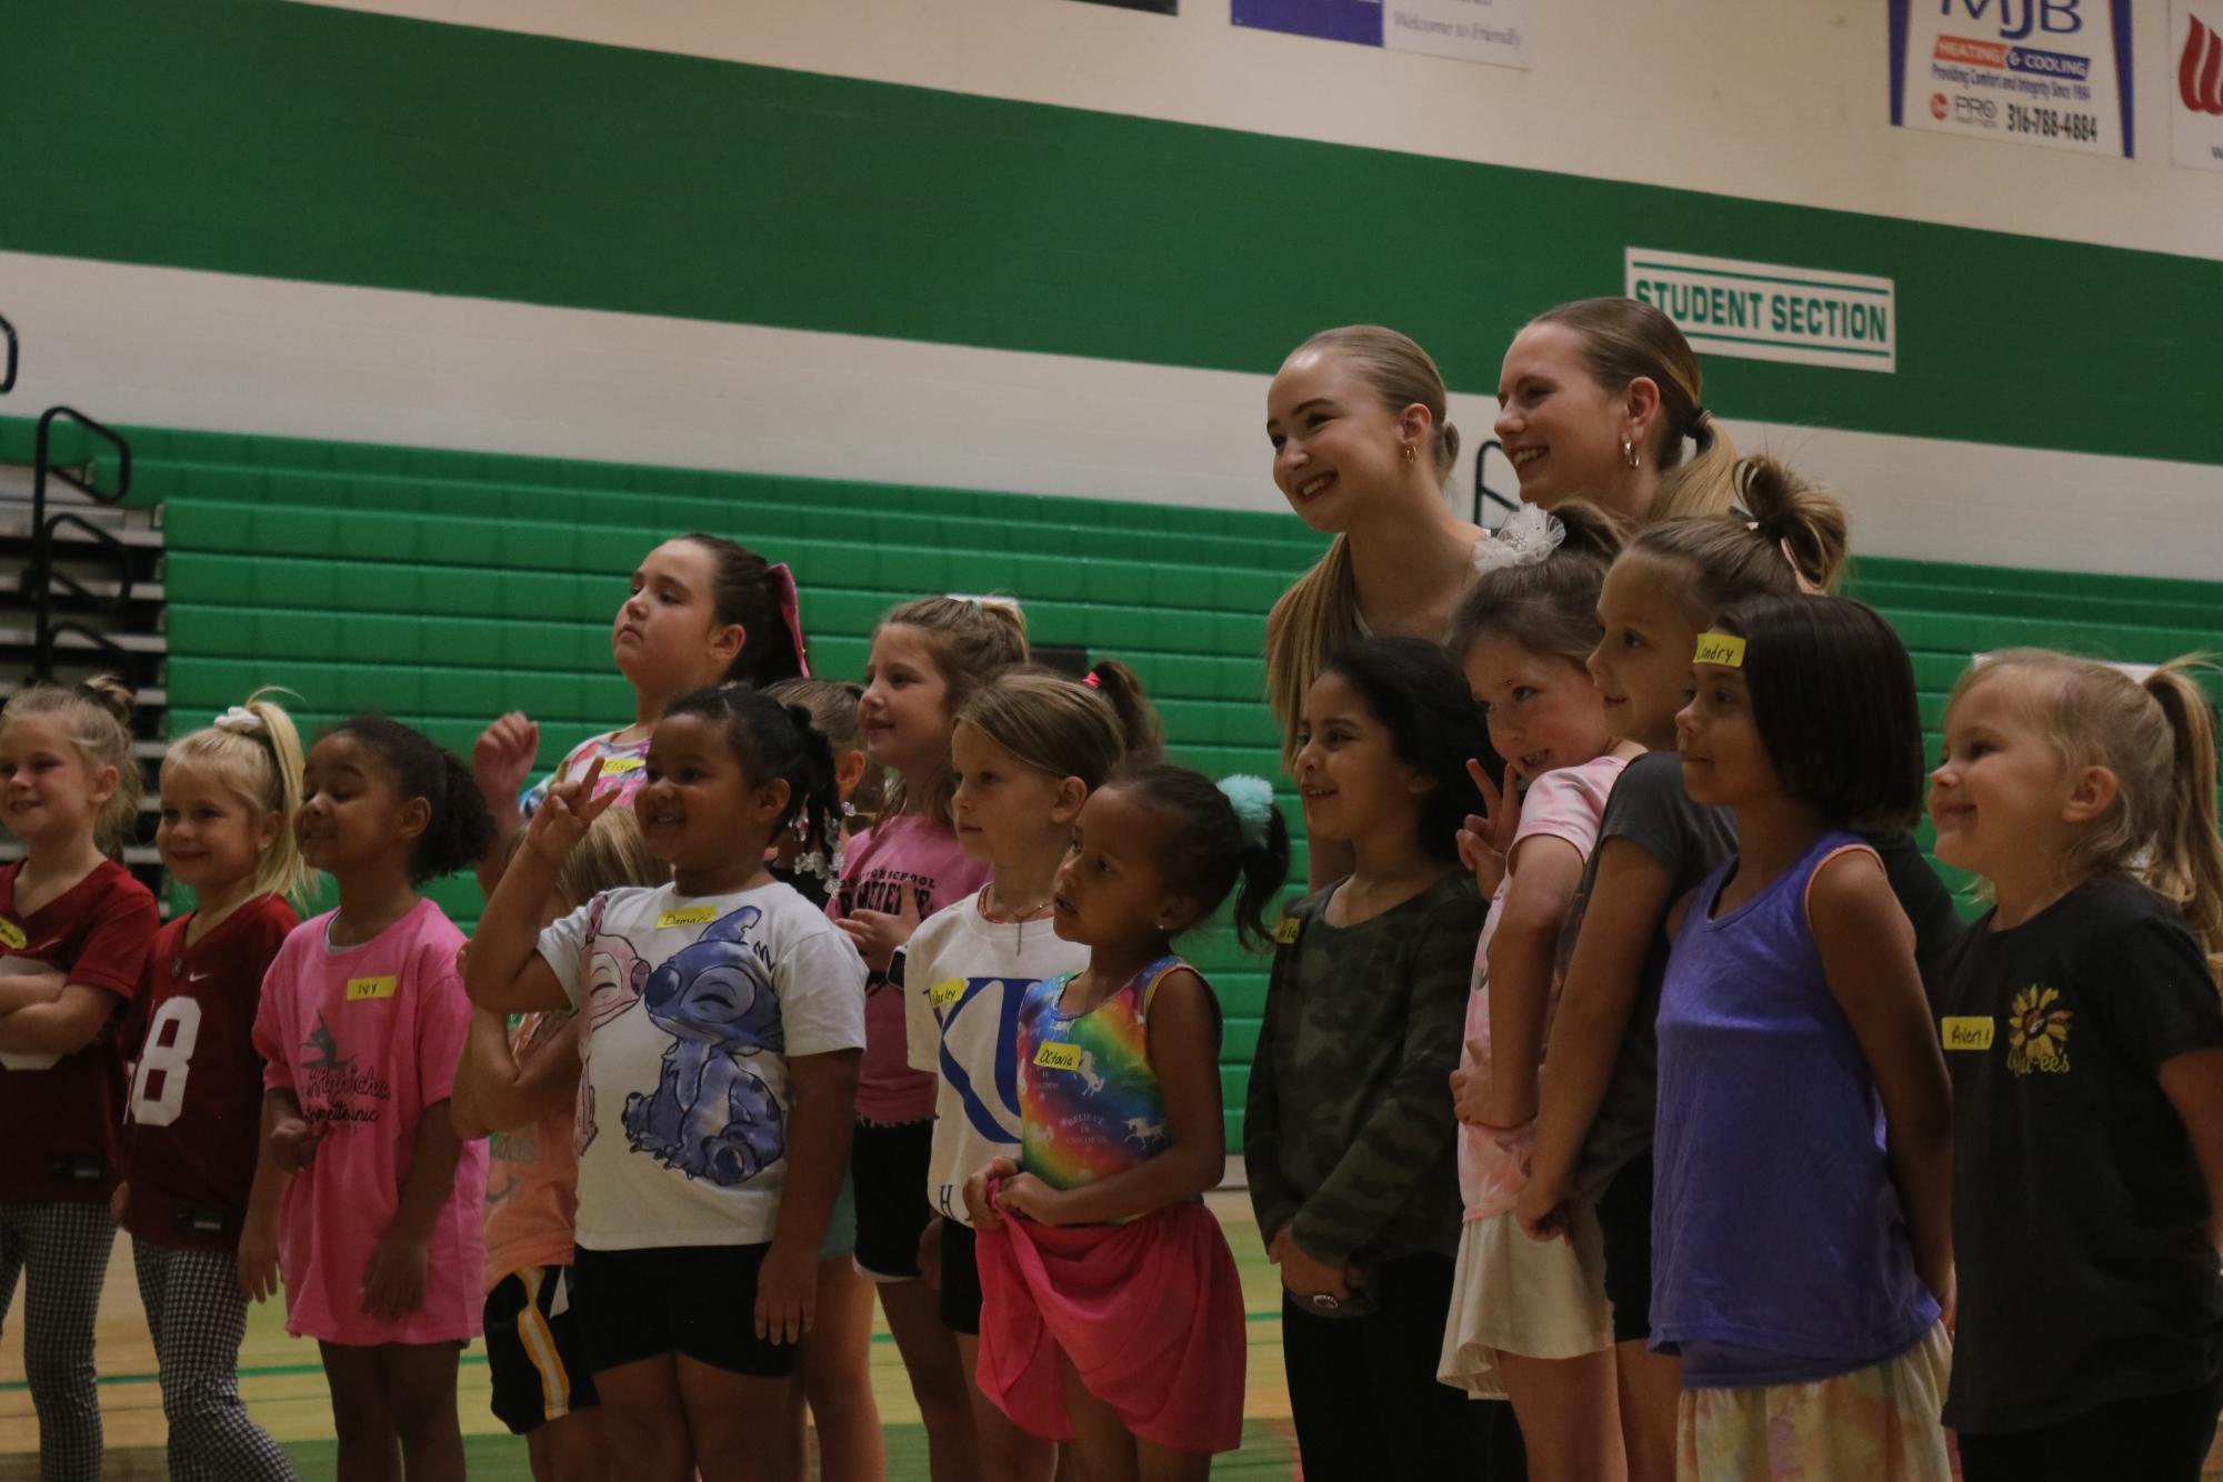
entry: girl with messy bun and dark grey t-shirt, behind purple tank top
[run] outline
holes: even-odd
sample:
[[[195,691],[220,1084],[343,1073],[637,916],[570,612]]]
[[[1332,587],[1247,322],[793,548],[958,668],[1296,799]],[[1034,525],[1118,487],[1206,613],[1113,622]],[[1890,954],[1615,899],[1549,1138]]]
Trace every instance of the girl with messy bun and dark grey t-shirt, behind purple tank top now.
[[[1674,1478],[1674,1360],[1652,1335],[1654,1020],[1667,913],[1736,847],[1736,820],[1694,804],[1674,758],[1698,631],[1752,593],[1827,587],[1845,560],[1836,500],[1765,460],[1738,471],[1729,518],[1647,524],[1605,573],[1589,658],[1616,740],[1647,749],[1614,784],[1569,911],[1572,955],[1552,1022],[1529,1178],[1516,1213],[1534,1238],[1578,1233],[1589,1206],[1614,1313],[1614,1369],[1632,1482]]]

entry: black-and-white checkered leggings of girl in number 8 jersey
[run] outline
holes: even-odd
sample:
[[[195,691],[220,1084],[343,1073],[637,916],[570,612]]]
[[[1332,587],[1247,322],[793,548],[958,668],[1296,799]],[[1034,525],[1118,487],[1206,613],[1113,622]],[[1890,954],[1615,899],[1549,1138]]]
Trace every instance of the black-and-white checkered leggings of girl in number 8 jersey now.
[[[247,1298],[238,1260],[138,1238],[131,1260],[162,1366],[171,1482],[293,1482],[285,1451],[247,1418],[240,1400]]]

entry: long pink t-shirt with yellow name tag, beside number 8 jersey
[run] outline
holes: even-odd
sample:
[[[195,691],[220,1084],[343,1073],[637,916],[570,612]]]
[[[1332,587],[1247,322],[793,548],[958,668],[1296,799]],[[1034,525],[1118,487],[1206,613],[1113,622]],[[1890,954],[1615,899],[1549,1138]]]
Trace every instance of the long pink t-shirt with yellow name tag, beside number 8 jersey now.
[[[262,1084],[325,1124],[316,1160],[278,1209],[287,1331],[345,1344],[476,1338],[485,1264],[487,1149],[465,1142],[433,1220],[425,1302],[398,1322],[362,1315],[362,1273],[393,1222],[418,1122],[445,1102],[471,1002],[456,975],[462,933],[431,900],[360,947],[331,947],[327,911],[296,927],[262,980]],[[440,1109],[436,1115],[447,1115]]]

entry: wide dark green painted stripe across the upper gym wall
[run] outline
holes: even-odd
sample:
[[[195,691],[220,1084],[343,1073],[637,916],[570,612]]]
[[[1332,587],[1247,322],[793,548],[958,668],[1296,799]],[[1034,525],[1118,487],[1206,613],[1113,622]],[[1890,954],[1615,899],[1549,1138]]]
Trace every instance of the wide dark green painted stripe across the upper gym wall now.
[[[2223,464],[2212,260],[316,4],[16,7],[4,64],[0,249],[1243,371],[1380,320],[1478,391],[1641,244],[1898,282],[1896,375],[1716,358],[1736,415]]]

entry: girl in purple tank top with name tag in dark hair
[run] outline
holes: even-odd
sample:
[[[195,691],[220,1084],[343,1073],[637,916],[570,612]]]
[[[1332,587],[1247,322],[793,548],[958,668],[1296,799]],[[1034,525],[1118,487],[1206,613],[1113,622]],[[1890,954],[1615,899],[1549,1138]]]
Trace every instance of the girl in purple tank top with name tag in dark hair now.
[[[1683,1364],[1676,1475],[1947,1482],[1950,1091],[1914,929],[1852,833],[1921,807],[1914,664],[1850,598],[1750,598],[1698,638],[1694,682],[1683,787],[1738,842],[1661,987],[1652,1342]]]

